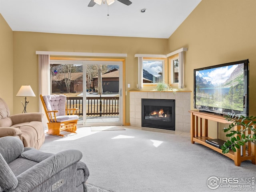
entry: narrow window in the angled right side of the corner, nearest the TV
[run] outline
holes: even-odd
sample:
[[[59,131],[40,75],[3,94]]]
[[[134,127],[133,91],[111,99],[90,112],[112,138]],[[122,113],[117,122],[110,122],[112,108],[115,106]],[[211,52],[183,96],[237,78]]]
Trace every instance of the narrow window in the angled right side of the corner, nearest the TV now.
[[[170,83],[178,84],[179,83],[179,56],[178,54],[169,58],[170,61]]]

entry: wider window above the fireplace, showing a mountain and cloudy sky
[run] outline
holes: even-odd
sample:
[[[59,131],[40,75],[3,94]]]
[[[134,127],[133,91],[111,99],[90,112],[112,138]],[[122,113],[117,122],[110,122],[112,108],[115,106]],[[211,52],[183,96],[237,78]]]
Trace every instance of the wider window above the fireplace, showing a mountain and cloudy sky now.
[[[143,84],[156,84],[164,80],[164,60],[143,58]]]

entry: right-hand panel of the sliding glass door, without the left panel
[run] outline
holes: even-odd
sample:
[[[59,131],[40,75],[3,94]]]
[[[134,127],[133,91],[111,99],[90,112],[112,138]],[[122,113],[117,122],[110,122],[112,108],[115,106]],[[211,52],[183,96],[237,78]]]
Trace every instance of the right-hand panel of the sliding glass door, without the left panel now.
[[[84,71],[84,124],[121,125],[122,62],[90,61]]]

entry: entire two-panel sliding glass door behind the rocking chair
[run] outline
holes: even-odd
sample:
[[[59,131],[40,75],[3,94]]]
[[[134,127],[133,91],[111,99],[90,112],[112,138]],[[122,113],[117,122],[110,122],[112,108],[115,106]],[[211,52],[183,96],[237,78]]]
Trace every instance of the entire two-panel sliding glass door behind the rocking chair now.
[[[51,60],[51,92],[78,108],[78,125],[122,125],[121,61]]]

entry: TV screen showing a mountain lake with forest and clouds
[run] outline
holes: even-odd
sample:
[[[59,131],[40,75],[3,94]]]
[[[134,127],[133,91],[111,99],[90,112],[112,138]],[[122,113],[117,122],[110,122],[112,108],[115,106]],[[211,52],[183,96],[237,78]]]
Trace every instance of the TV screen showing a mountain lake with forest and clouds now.
[[[243,111],[244,64],[196,71],[196,105]]]

